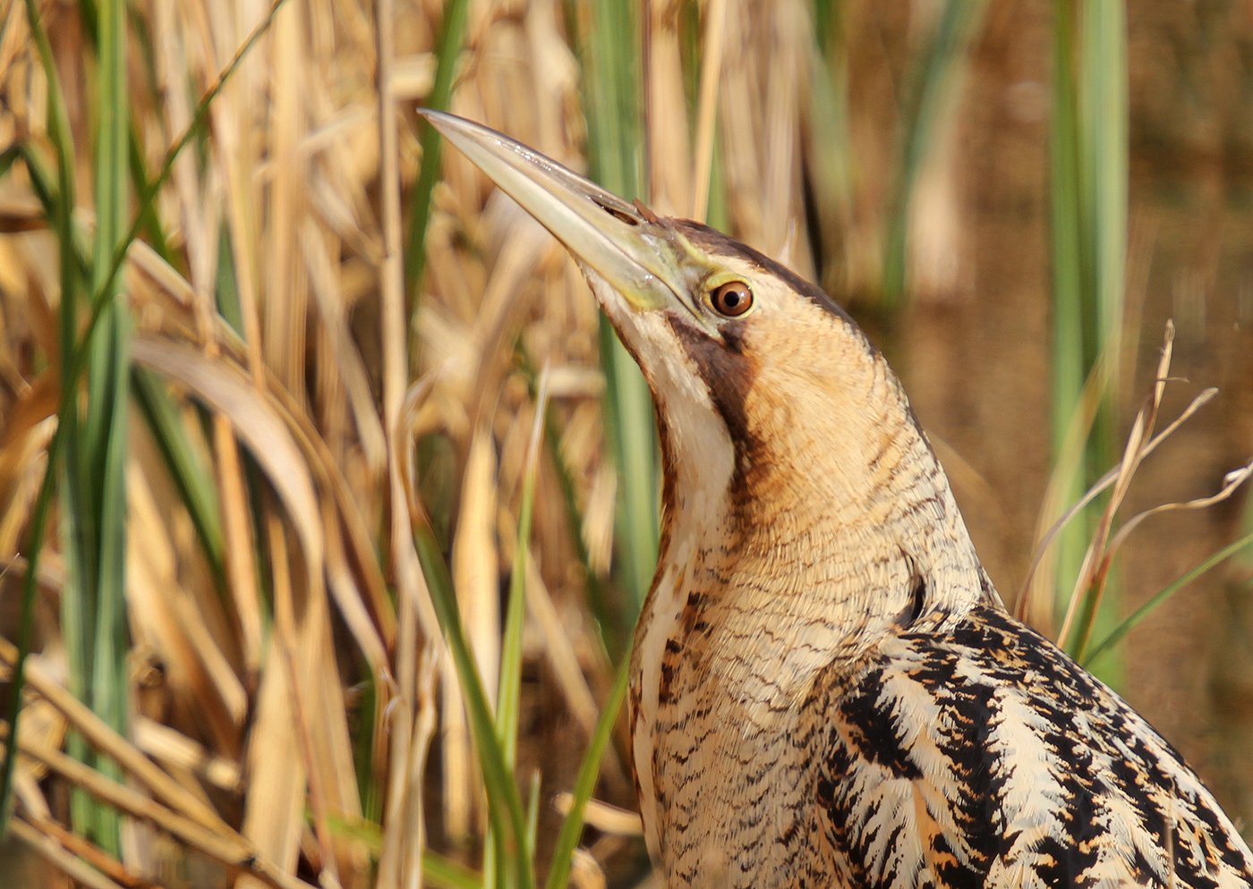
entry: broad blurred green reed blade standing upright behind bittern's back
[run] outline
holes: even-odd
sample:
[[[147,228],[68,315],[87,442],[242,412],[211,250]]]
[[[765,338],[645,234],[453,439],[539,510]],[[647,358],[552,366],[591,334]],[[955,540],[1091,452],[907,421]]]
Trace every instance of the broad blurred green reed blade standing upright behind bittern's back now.
[[[1126,25],[1121,3],[1056,0],[1054,4],[1054,84],[1051,152],[1054,374],[1053,417],[1055,480],[1064,502],[1073,502],[1095,480],[1096,467],[1114,453],[1114,393],[1121,341],[1126,252]],[[1081,451],[1068,446],[1068,433],[1084,409],[1084,387],[1099,373],[1100,403],[1090,437]],[[1094,506],[1060,536],[1056,548],[1055,611],[1069,605],[1084,551],[1099,511]],[[1080,591],[1076,639],[1113,621],[1115,596],[1098,609],[1089,591]],[[1098,670],[1118,685],[1116,664]]]

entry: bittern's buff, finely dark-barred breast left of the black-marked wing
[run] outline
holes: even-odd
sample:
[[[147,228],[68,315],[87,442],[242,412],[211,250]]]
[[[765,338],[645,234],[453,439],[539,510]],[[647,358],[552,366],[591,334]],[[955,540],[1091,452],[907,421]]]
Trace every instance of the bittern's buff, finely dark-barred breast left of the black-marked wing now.
[[[737,863],[751,861],[754,885],[768,886],[767,874],[783,880],[788,856],[821,843],[806,820],[816,769],[802,725],[814,677],[878,636],[872,621],[910,588],[913,568],[901,553],[819,553],[813,541],[767,546],[684,525],[634,650],[645,834],[675,885],[738,885]]]

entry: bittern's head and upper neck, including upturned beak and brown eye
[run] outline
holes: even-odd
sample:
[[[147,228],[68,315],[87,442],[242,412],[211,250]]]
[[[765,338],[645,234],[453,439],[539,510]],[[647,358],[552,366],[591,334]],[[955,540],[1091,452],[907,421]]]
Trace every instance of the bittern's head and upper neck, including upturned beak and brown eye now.
[[[942,535],[981,575],[900,383],[826,293],[495,130],[422,114],[569,249],[643,369],[663,446],[663,568],[683,537],[776,563],[840,545],[915,572]]]

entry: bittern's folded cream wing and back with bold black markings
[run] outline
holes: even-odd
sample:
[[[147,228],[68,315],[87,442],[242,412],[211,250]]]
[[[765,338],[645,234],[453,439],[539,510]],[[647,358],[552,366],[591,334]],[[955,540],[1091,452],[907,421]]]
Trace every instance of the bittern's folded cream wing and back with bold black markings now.
[[[1253,883],[1213,796],[1116,694],[995,606],[927,622],[812,696],[837,885]]]

